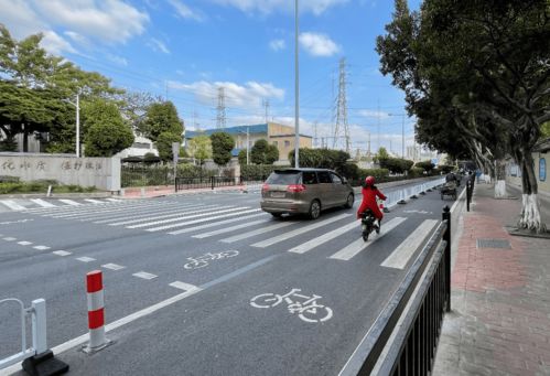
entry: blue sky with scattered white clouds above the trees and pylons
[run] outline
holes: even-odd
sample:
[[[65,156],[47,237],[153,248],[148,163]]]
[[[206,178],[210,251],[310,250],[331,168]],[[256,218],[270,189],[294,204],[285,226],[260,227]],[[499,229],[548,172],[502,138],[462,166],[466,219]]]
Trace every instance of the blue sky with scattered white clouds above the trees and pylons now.
[[[265,122],[266,103],[270,121],[294,125],[294,0],[0,0],[0,9],[14,37],[42,32],[51,53],[168,97],[187,129],[216,126],[219,87],[227,127]],[[365,150],[370,135],[373,151],[400,155],[403,94],[374,50],[392,11],[390,0],[300,0],[300,130],[316,129],[319,144],[333,144],[345,58],[353,148]],[[413,123],[405,118],[407,146]]]

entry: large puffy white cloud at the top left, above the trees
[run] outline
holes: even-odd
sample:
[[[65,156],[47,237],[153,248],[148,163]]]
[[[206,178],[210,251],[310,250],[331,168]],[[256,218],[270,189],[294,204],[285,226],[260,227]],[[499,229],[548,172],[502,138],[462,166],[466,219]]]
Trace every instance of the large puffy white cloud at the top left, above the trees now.
[[[149,15],[121,0],[31,0],[50,23],[107,43],[123,43],[144,31]]]

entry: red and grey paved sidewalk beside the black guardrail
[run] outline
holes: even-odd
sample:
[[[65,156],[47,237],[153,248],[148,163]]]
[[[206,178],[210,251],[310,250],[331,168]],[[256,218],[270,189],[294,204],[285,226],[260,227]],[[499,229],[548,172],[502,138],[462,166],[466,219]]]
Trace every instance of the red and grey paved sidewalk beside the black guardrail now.
[[[463,213],[433,375],[550,375],[550,239],[510,236],[521,201],[493,195]]]

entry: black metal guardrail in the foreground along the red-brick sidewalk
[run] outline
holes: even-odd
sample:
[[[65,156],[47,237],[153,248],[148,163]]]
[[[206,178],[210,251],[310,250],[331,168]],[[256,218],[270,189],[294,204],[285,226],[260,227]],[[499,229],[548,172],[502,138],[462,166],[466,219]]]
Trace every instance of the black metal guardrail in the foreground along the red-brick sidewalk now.
[[[339,375],[432,374],[450,310],[451,211],[445,206],[443,221]]]

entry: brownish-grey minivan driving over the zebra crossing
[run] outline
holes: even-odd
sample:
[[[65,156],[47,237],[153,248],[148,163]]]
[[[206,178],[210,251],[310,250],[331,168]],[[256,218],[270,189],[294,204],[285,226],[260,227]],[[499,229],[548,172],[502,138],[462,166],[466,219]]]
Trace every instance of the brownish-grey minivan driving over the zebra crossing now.
[[[354,206],[354,190],[345,178],[325,169],[276,170],[261,189],[261,210],[274,217],[308,214],[316,219],[330,207]]]

